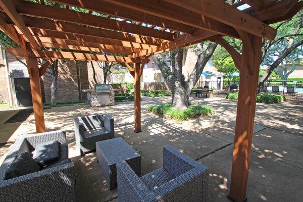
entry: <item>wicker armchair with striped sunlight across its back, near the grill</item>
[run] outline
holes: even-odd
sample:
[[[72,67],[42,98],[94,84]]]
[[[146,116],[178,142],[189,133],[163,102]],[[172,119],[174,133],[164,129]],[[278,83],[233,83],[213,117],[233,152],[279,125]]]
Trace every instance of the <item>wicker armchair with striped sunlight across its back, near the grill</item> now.
[[[96,150],[96,142],[115,138],[114,119],[106,114],[74,118],[76,144],[80,154]]]

